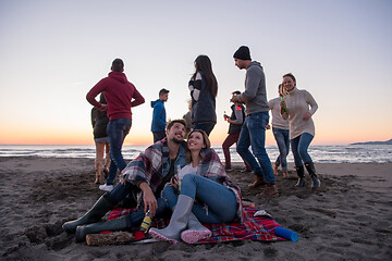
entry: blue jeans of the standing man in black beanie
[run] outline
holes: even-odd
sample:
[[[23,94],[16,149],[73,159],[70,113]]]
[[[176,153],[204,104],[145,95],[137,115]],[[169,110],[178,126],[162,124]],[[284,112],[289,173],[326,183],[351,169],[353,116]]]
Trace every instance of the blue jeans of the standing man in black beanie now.
[[[272,164],[266,150],[268,121],[268,112],[256,112],[245,117],[237,142],[237,152],[250,165],[256,175],[264,175],[267,183],[274,184]],[[252,146],[254,156],[249,151],[249,146]]]

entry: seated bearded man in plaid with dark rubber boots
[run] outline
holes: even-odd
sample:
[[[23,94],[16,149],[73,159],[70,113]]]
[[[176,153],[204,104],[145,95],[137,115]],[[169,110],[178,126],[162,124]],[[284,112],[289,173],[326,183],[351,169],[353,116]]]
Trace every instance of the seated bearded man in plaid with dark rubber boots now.
[[[120,183],[110,192],[101,196],[94,207],[82,217],[63,224],[63,229],[75,232],[76,241],[84,241],[87,234],[101,231],[121,231],[139,226],[145,212],[151,216],[162,216],[169,210],[160,198],[164,184],[173,177],[180,166],[186,165],[186,124],[174,120],[168,124],[167,138],[149,146],[123,171]],[[128,196],[138,198],[138,210],[131,215],[99,222],[120,201]]]

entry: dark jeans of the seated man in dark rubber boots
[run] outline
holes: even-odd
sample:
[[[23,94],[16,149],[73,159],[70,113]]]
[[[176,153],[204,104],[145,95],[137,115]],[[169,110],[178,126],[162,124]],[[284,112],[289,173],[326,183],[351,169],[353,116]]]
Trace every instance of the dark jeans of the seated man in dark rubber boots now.
[[[131,183],[125,183],[125,185],[119,183],[110,192],[108,192],[108,196],[111,199],[110,201],[113,204],[118,204],[120,201],[125,199],[127,195],[130,195],[132,189],[136,189],[136,188],[133,185],[131,185]],[[158,209],[156,211],[155,216],[162,217],[169,211],[167,201],[162,198],[157,198],[157,203],[158,203]],[[136,210],[127,219],[130,219],[132,226],[138,226],[142,224],[144,216],[145,216],[144,210]]]

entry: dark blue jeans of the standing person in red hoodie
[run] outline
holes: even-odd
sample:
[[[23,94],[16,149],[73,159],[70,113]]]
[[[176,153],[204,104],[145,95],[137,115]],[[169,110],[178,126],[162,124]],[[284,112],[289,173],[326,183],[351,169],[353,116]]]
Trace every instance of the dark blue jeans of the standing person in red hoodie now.
[[[130,133],[132,120],[122,117],[111,120],[107,127],[107,133],[110,141],[110,167],[107,185],[113,185],[117,171],[120,172],[125,169],[126,162],[121,153],[122,145],[126,135]]]

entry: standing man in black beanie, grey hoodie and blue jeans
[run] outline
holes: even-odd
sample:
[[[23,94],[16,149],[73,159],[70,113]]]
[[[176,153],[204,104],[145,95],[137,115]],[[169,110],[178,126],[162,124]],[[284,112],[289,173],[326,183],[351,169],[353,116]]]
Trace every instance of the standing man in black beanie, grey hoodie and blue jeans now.
[[[269,122],[266,76],[260,63],[252,61],[248,47],[240,47],[233,58],[240,70],[246,70],[245,91],[241,95],[233,95],[231,99],[232,102],[241,102],[246,105],[246,117],[236,150],[255,173],[255,182],[249,185],[249,188],[265,185],[259,197],[278,197],[272,164],[266,150],[266,126]],[[249,146],[252,146],[253,154]]]

